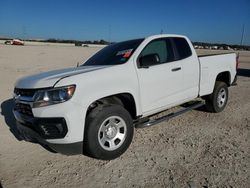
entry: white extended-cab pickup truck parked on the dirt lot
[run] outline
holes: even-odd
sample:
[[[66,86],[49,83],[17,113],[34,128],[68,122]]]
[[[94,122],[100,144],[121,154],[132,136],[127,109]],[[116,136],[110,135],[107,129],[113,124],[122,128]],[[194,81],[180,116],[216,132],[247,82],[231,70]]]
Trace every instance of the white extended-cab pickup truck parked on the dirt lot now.
[[[134,127],[159,123],[203,101],[209,111],[222,111],[237,65],[235,53],[198,57],[180,35],[119,42],[78,67],[19,79],[13,113],[26,141],[66,155],[114,159],[129,147]]]

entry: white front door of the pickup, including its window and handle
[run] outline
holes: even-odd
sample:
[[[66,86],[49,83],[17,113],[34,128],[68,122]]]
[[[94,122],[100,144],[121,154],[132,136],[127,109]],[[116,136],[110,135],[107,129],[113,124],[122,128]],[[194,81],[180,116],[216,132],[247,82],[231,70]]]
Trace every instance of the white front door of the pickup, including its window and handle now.
[[[160,60],[148,68],[137,69],[144,115],[171,107],[184,98],[182,63],[175,59],[172,41],[161,38],[149,42],[137,61],[149,54],[157,54]]]

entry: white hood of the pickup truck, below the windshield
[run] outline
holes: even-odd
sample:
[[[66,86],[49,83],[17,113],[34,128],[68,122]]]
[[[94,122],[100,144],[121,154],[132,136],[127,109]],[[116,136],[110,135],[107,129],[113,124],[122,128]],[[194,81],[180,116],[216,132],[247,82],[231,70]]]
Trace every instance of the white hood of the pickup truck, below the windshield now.
[[[73,76],[76,74],[82,74],[90,71],[95,71],[98,69],[103,69],[109,66],[81,66],[60,70],[53,70],[49,72],[43,72],[19,79],[15,87],[23,89],[34,89],[34,88],[46,88],[53,87],[59,80]]]

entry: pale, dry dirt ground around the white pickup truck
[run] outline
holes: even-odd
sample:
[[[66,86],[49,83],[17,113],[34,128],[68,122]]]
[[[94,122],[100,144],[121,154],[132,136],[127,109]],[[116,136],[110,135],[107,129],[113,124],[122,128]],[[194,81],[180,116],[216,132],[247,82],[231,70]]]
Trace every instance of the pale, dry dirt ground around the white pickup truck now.
[[[229,89],[228,106],[222,113],[193,110],[168,122],[136,129],[131,146],[118,159],[63,156],[18,141],[10,100],[15,81],[24,75],[75,66],[97,50],[0,45],[3,188],[250,186],[250,52],[240,52],[238,85]]]

